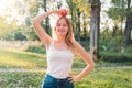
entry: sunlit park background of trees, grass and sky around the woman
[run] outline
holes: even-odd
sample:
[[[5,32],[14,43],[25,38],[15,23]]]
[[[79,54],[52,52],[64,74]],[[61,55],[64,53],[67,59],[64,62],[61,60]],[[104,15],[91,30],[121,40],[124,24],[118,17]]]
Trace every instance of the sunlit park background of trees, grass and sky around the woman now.
[[[75,87],[132,88],[131,0],[0,1],[0,88],[41,88],[46,70],[46,51],[34,32],[32,19],[59,8],[69,10],[67,16],[75,38],[88,52],[92,10],[98,9],[96,67]],[[52,15],[42,23],[50,35],[56,19],[57,15]],[[76,56],[72,73],[77,75],[85,66]]]

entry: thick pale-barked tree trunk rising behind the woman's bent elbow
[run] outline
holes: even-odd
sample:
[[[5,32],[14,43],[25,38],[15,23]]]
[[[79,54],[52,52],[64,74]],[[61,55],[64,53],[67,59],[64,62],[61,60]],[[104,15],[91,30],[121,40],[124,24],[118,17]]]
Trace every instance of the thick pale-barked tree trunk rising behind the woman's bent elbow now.
[[[94,0],[91,3],[90,18],[90,53],[99,58],[99,29],[100,29],[100,0]]]

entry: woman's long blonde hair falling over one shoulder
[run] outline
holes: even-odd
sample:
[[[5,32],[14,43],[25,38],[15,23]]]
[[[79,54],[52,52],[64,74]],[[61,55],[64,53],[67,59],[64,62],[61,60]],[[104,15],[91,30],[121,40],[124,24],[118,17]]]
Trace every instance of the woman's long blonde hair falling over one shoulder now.
[[[66,18],[66,16],[61,16],[58,20],[57,20],[57,23],[59,22],[59,20],[64,19],[68,25],[68,32],[66,34],[66,37],[65,37],[65,42],[67,44],[68,47],[73,47],[74,46],[74,33],[73,33],[73,28],[72,28],[72,24],[70,24],[70,21]],[[55,25],[55,29],[54,31],[56,30],[56,25]]]

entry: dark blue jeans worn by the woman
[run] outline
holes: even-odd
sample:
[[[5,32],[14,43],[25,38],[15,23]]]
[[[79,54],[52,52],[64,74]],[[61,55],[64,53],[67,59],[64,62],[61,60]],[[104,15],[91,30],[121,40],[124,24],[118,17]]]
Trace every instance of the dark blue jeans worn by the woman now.
[[[47,74],[42,84],[42,88],[74,88],[74,85],[68,77],[57,79]]]

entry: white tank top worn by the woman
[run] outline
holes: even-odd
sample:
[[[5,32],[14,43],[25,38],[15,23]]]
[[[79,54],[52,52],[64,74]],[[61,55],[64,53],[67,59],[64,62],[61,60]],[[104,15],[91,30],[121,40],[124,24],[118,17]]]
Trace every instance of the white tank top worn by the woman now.
[[[51,43],[47,48],[47,74],[55,78],[66,78],[72,69],[74,53],[70,50],[56,50]]]

